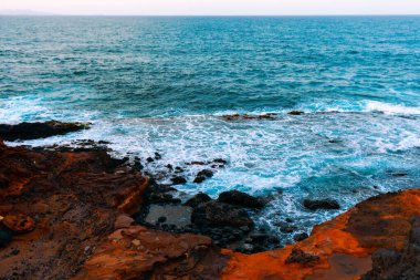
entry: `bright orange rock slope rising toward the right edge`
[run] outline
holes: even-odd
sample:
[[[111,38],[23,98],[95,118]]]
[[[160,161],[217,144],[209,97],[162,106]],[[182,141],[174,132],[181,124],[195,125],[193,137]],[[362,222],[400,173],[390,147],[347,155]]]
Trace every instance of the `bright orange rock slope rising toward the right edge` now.
[[[371,256],[378,249],[390,249],[395,252],[412,249],[412,231],[418,231],[418,228],[414,228],[418,216],[420,189],[381,195],[316,226],[309,238],[283,249],[255,255],[224,250],[223,253],[231,259],[221,277],[284,280],[360,279],[372,269]],[[416,279],[416,273],[412,271],[411,278],[405,279]],[[377,278],[365,276],[364,279],[385,279],[378,277],[378,273],[375,276]],[[397,278],[392,279],[398,279],[398,274],[393,277]]]

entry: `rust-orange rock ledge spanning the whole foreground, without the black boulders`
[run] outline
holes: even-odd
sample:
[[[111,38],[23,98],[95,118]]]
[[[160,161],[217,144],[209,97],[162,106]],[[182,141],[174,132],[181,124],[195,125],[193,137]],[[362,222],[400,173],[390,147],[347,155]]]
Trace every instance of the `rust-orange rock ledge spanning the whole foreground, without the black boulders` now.
[[[23,231],[14,228],[19,222],[0,222],[0,279],[420,276],[420,189],[370,198],[300,242],[244,255],[209,237],[134,225],[129,216],[147,188],[147,177],[104,151],[31,151],[0,142],[0,220],[27,222]]]

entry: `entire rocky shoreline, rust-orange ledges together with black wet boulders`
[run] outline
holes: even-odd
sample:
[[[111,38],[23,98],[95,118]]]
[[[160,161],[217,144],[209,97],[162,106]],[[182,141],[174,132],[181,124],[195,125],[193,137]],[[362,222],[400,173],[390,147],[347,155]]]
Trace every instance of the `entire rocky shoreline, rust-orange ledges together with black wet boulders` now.
[[[10,141],[87,126],[52,121],[0,128],[0,138]],[[114,159],[105,145],[31,149],[0,143],[0,279],[420,276],[418,189],[368,199],[315,227],[309,237],[298,234],[295,245],[279,248],[281,240],[255,228],[250,216],[270,198],[233,190],[217,199],[200,193],[181,201],[174,186],[143,174],[139,159]],[[203,166],[195,178],[201,183],[227,163],[190,164]],[[177,168],[168,166],[172,185],[185,180]],[[303,205],[339,208],[330,199]]]

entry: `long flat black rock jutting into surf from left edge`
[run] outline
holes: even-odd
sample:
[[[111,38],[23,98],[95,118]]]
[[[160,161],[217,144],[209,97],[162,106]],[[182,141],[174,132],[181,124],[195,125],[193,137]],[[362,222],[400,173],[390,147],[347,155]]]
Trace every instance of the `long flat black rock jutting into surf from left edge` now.
[[[59,121],[20,123],[17,125],[0,124],[0,138],[4,141],[38,139],[87,128],[88,124],[62,123]]]

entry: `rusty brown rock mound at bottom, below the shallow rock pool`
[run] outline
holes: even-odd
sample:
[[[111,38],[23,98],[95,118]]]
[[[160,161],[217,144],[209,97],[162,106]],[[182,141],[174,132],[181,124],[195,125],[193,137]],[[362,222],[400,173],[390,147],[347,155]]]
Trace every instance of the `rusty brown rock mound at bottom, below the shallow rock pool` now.
[[[217,279],[224,259],[208,237],[130,226],[109,235],[74,280]]]

